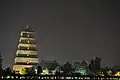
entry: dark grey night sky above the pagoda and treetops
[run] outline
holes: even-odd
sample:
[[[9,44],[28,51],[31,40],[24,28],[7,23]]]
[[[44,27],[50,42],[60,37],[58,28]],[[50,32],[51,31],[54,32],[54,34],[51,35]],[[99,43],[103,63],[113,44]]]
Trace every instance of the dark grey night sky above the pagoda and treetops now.
[[[3,67],[13,64],[25,24],[36,31],[40,59],[62,63],[101,56],[102,66],[120,65],[117,0],[0,0]]]

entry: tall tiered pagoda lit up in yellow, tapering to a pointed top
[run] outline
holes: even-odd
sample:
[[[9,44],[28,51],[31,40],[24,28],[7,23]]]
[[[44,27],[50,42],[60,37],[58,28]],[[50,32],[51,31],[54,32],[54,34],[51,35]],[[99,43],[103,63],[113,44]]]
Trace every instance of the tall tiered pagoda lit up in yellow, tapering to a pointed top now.
[[[21,31],[13,71],[21,73],[22,70],[39,64],[34,34],[35,32],[28,25]]]

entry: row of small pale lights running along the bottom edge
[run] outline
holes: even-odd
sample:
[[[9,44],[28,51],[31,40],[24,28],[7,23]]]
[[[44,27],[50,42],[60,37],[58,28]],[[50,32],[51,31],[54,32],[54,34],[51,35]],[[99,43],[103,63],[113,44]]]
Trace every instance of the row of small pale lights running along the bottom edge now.
[[[77,80],[91,80],[91,77],[40,77],[40,76],[1,76],[1,79],[77,79]],[[115,77],[108,77],[108,78],[100,78],[100,77],[93,77],[93,80],[96,79],[106,79],[106,80],[113,80],[113,79],[120,79]]]

